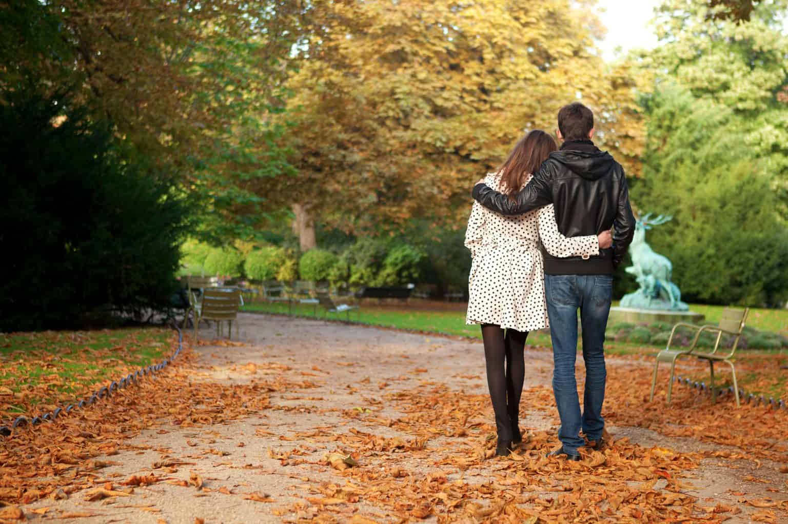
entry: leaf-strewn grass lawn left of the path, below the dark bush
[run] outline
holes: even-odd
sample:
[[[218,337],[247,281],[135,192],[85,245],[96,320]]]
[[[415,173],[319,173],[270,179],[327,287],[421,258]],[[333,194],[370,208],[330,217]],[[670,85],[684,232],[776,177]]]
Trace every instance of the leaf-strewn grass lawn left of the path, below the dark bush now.
[[[0,417],[70,402],[173,350],[169,329],[0,335]]]

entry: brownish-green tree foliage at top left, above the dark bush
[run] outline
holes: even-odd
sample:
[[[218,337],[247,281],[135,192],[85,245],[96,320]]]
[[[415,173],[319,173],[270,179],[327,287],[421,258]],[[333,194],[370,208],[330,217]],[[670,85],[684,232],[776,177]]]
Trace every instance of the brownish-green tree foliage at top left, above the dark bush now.
[[[249,180],[290,169],[270,114],[302,11],[284,0],[11,2],[0,86],[70,87],[141,162],[203,197],[204,236],[248,235],[265,218]]]

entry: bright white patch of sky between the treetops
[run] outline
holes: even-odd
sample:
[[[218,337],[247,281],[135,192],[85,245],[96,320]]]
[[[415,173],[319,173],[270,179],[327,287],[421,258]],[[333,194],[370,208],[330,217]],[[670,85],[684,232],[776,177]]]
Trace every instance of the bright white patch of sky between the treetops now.
[[[617,56],[616,47],[621,46],[623,52],[645,47],[656,46],[656,36],[648,26],[653,18],[653,9],[659,0],[599,0],[600,19],[608,35],[600,47],[602,56],[611,60]],[[605,9],[605,12],[602,12]]]

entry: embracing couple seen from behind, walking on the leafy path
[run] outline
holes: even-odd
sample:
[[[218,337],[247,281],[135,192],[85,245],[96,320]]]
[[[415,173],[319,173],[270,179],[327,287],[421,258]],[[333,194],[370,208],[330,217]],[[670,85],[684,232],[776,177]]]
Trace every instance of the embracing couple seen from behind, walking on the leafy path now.
[[[548,456],[579,460],[581,446],[603,445],[604,330],[612,273],[632,241],[635,220],[623,169],[594,146],[593,132],[591,110],[578,102],[564,106],[558,113],[560,149],[552,136],[532,131],[496,173],[474,187],[477,202],[465,238],[473,257],[466,323],[481,324],[496,455],[508,455],[522,442],[523,348],[529,331],[548,325],[562,444]],[[578,308],[585,360],[582,414],[574,377]]]

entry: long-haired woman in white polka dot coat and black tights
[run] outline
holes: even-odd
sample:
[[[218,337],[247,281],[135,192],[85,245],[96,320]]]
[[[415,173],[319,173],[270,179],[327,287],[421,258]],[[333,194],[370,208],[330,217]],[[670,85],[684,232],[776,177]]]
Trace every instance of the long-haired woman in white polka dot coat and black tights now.
[[[485,184],[514,198],[553,151],[552,136],[532,131],[520,139],[496,173],[487,175]],[[540,242],[553,256],[589,257],[598,255],[600,246],[610,247],[611,236],[609,231],[599,236],[563,236],[552,205],[505,217],[474,203],[465,236],[473,258],[466,324],[481,324],[498,432],[496,455],[508,455],[512,445],[522,442],[523,349],[529,331],[548,326]]]

